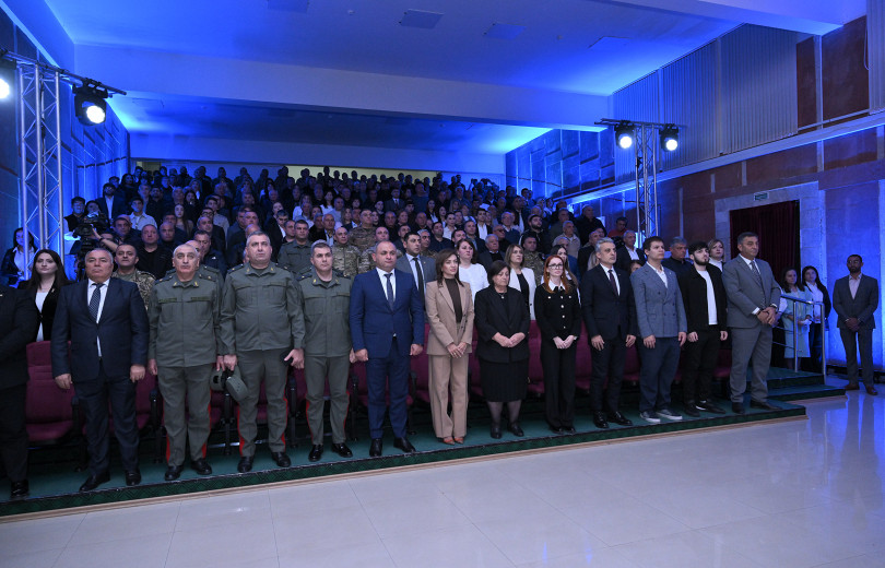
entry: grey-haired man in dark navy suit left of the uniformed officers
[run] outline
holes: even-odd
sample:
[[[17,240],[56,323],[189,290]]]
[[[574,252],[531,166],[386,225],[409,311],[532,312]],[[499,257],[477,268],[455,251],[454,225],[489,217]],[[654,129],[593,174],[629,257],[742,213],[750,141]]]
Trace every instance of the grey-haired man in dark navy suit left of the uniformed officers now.
[[[148,363],[148,313],[138,286],[111,279],[113,270],[110,252],[90,251],[86,280],[61,288],[52,324],[52,375],[61,389],[73,384],[86,421],[90,476],[81,492],[110,480],[108,400],[126,484],[141,483],[135,383],[144,378]]]

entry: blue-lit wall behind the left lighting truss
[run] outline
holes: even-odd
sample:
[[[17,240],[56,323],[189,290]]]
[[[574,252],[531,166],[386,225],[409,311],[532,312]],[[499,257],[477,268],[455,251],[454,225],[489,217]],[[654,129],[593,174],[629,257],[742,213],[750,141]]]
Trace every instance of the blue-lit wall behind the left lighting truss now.
[[[34,44],[0,11],[0,47],[33,59],[40,58]],[[10,71],[9,73],[13,73]],[[14,76],[14,75],[13,75]],[[62,187],[64,211],[70,211],[73,196],[87,200],[98,196],[102,184],[127,169],[129,134],[110,107],[107,120],[95,127],[83,127],[73,117],[71,88],[62,84],[60,94]],[[0,102],[0,247],[12,246],[12,235],[21,225],[15,95]],[[54,205],[56,206],[56,205]],[[36,227],[34,227],[36,229]]]

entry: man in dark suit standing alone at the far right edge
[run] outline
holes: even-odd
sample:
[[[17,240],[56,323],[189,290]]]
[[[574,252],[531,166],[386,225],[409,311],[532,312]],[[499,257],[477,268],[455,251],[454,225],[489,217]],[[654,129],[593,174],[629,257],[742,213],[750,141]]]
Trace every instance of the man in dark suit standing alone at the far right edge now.
[[[873,387],[873,330],[876,327],[873,313],[878,308],[878,282],[861,274],[863,259],[860,255],[848,257],[848,276],[836,281],[833,287],[833,309],[839,316],[836,324],[845,345],[845,363],[848,386],[845,390],[858,390],[858,348],[866,393],[876,395]]]

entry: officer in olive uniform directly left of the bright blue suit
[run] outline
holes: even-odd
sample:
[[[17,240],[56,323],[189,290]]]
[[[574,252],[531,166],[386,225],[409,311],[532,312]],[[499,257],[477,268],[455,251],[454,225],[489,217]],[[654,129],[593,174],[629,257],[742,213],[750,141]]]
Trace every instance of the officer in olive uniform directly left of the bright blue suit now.
[[[351,305],[351,279],[332,272],[332,249],[324,240],[311,247],[309,273],[298,277],[296,287],[304,313],[304,327],[295,335],[295,351],[304,360],[307,380],[307,423],[314,447],[307,459],[322,457],[323,394],[329,380],[329,419],[332,424],[332,451],[342,458],[353,452],[345,443],[347,419],[347,374],[354,355],[347,320]]]

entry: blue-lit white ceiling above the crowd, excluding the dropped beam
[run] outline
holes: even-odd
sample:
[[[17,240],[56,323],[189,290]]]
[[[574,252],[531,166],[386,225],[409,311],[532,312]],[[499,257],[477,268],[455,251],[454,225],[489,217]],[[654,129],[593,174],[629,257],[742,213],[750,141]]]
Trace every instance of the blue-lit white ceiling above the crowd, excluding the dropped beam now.
[[[36,1],[36,0],[35,0]],[[175,85],[111,100],[131,131],[500,152],[536,135],[520,117],[492,120],[457,111],[377,116],[341,106],[317,113],[268,96],[234,100],[228,78],[205,75],[194,61],[213,58],[287,68],[423,78],[579,95],[609,95],[744,22],[805,32],[834,28],[864,12],[863,0],[45,0],[75,46],[123,54],[175,54],[198,94]],[[294,10],[274,9],[292,7]],[[433,12],[433,28],[401,25],[406,11]],[[858,13],[860,12],[860,13]],[[414,14],[413,14],[414,15]],[[433,14],[416,14],[434,20]],[[421,16],[425,17],[421,17]],[[430,17],[427,17],[430,16]],[[492,34],[512,38],[489,37]],[[135,59],[138,61],[138,59]],[[162,78],[156,81],[163,85]],[[192,85],[191,85],[192,86]],[[286,87],[291,88],[291,87]],[[358,91],[358,84],[341,88]],[[272,96],[274,95],[274,96]],[[445,96],[445,94],[442,95]],[[388,113],[396,115],[396,113]],[[500,123],[507,122],[507,123]],[[532,126],[544,126],[524,122]],[[502,141],[507,142],[502,142]]]

